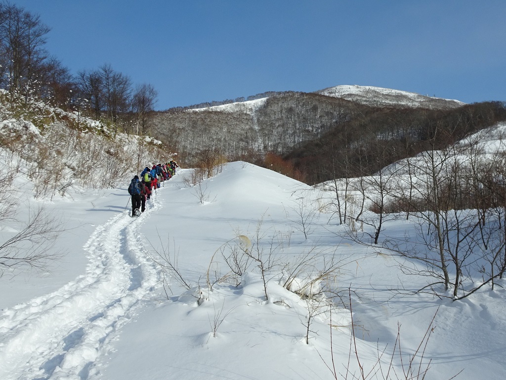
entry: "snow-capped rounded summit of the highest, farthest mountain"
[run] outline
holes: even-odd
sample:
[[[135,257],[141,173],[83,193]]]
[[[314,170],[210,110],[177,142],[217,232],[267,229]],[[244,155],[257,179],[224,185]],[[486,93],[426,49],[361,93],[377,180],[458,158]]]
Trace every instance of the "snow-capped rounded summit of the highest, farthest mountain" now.
[[[423,96],[412,92],[371,86],[335,86],[316,91],[316,93],[373,106],[402,105],[413,108],[445,109],[455,108],[465,104],[458,100],[447,100]]]

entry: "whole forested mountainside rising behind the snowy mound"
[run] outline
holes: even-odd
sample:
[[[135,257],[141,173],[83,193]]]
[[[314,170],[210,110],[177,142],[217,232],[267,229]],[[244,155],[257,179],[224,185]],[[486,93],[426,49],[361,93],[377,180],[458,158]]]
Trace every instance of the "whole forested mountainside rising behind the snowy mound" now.
[[[211,151],[318,183],[372,174],[506,120],[501,102],[466,105],[387,89],[359,90],[357,96],[347,94],[354,100],[323,90],[332,96],[284,92],[252,111],[236,105],[158,112],[149,131],[190,164]]]

